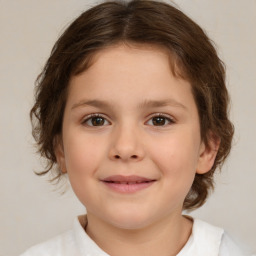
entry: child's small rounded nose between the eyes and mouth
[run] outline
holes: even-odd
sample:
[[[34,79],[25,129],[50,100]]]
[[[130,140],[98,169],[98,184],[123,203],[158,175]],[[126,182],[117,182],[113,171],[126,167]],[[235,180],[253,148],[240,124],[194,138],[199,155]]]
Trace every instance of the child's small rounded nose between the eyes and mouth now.
[[[109,150],[111,160],[141,161],[144,156],[144,147],[138,128],[118,127],[113,131],[112,144]]]

